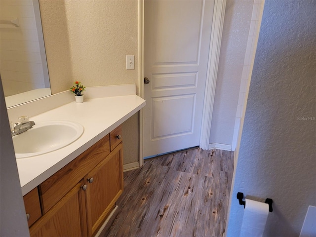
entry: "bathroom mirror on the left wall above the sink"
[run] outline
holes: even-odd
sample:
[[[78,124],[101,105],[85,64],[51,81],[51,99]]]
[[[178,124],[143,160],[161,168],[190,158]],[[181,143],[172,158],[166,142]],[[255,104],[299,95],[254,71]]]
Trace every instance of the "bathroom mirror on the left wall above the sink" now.
[[[0,40],[6,106],[51,95],[38,0],[0,0]]]

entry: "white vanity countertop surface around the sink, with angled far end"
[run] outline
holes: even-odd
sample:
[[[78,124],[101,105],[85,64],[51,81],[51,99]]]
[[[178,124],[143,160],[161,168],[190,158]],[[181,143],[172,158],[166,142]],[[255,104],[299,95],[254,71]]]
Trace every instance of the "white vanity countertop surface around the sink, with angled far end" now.
[[[134,115],[145,104],[145,100],[137,95],[88,98],[83,103],[74,101],[30,117],[35,123],[49,120],[79,122],[84,127],[84,131],[78,140],[64,148],[35,157],[16,159],[22,194],[25,195],[37,187]]]

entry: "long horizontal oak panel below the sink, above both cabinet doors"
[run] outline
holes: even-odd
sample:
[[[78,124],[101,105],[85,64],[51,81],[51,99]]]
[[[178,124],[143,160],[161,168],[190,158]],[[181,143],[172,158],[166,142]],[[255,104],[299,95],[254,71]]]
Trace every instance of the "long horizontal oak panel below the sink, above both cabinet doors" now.
[[[110,154],[109,134],[40,184],[43,214],[64,197],[92,168]]]

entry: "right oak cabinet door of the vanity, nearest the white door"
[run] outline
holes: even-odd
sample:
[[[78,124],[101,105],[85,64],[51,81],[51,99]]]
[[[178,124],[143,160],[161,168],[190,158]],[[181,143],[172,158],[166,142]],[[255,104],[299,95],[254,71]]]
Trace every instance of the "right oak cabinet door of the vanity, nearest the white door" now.
[[[123,192],[122,144],[101,161],[84,179],[88,234],[94,236]]]

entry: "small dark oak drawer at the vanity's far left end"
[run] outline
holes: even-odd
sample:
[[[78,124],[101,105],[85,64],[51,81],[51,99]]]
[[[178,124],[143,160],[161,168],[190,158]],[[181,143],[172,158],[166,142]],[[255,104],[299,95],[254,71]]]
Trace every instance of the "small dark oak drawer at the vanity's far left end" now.
[[[23,196],[29,227],[41,217],[39,191],[36,187]]]

